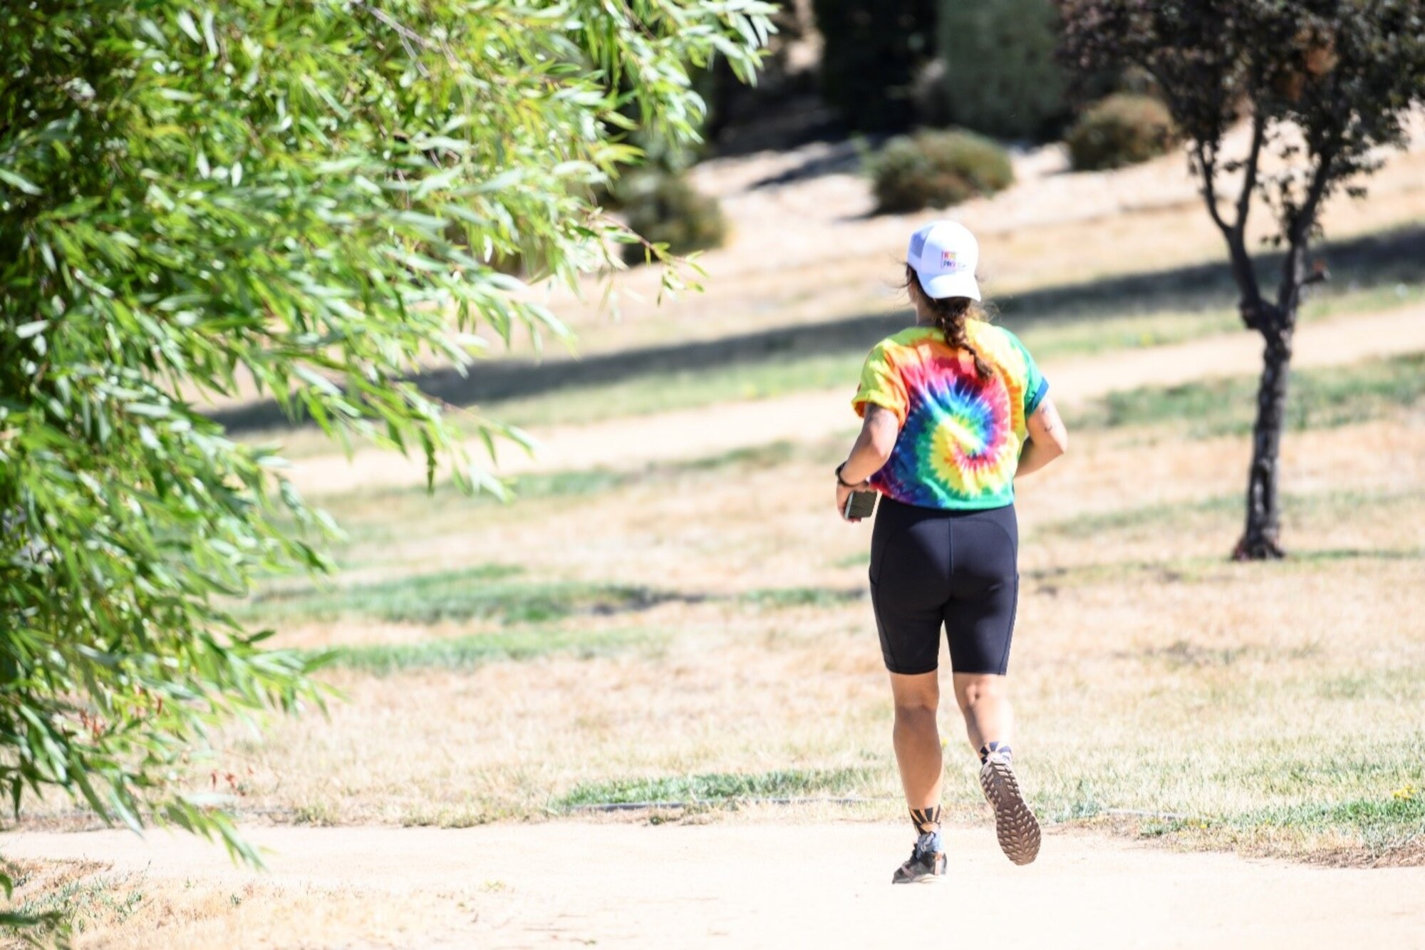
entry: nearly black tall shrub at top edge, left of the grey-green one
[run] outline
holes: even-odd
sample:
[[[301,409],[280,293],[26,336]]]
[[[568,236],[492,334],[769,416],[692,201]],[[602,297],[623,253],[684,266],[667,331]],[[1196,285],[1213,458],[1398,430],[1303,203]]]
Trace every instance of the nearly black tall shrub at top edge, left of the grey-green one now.
[[[821,96],[848,126],[915,123],[915,76],[935,56],[938,0],[812,0],[822,36]]]

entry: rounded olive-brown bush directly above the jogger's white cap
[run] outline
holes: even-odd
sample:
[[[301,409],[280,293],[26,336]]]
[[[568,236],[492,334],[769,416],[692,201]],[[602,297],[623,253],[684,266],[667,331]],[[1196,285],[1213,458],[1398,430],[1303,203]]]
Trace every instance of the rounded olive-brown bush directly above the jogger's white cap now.
[[[960,130],[892,138],[872,161],[871,174],[876,211],[942,208],[1015,181],[1007,151]]]

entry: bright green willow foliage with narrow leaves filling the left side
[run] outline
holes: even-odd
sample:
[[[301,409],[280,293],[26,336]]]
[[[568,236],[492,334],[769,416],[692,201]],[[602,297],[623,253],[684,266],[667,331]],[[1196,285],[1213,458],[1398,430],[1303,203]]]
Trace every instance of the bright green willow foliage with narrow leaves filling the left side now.
[[[618,267],[593,204],[693,143],[690,63],[751,74],[742,0],[57,0],[0,29],[0,783],[171,823],[217,723],[321,706],[227,606],[331,569],[331,518],[205,414],[235,392],[503,495],[409,384],[479,337],[569,338],[524,292]],[[504,271],[517,270],[519,277]],[[482,344],[483,345],[483,344]]]

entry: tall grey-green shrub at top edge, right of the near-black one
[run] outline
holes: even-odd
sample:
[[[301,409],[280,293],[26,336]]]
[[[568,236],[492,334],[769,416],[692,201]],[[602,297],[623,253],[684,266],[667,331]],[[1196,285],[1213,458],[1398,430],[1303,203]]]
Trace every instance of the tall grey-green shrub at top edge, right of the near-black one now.
[[[1069,118],[1053,0],[942,0],[950,120],[1002,138],[1057,138]]]

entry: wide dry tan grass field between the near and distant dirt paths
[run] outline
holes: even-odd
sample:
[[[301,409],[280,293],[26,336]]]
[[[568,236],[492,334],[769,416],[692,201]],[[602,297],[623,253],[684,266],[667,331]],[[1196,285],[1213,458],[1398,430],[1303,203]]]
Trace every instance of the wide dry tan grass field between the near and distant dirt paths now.
[[[520,662],[332,670],[346,702],[329,719],[234,733],[218,767],[245,776],[242,807],[312,823],[534,819],[587,785],[778,770],[817,795],[817,776],[844,773],[836,793],[885,799],[856,813],[896,813],[869,603],[839,596],[862,585],[868,528],[839,523],[819,491],[841,448],[647,469],[509,508],[343,499],[358,538],[402,526],[346,552],[366,579],[499,562],[685,596],[564,616],[556,646]],[[1389,860],[1425,820],[1396,795],[1425,787],[1425,427],[1398,411],[1288,434],[1297,558],[1281,565],[1224,558],[1244,468],[1240,438],[1110,429],[1026,482],[1012,669],[1026,785],[1056,822],[1130,809],[1188,816],[1130,823],[1180,844]],[[750,596],[765,589],[811,593]],[[559,646],[630,628],[640,636],[597,653]],[[282,636],[416,646],[522,629],[356,616]],[[953,710],[942,722],[948,803],[968,819],[973,760]]]

